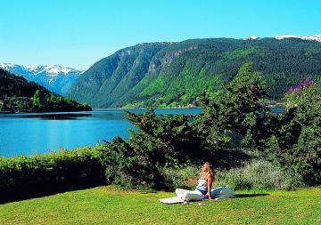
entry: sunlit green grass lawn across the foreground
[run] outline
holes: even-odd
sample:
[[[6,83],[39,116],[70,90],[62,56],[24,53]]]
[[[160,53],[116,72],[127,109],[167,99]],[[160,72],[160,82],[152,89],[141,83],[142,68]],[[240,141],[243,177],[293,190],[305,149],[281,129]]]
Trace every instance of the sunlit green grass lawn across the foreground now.
[[[237,194],[243,197],[163,205],[157,199],[173,193],[102,186],[0,205],[0,224],[321,224],[321,188]]]

